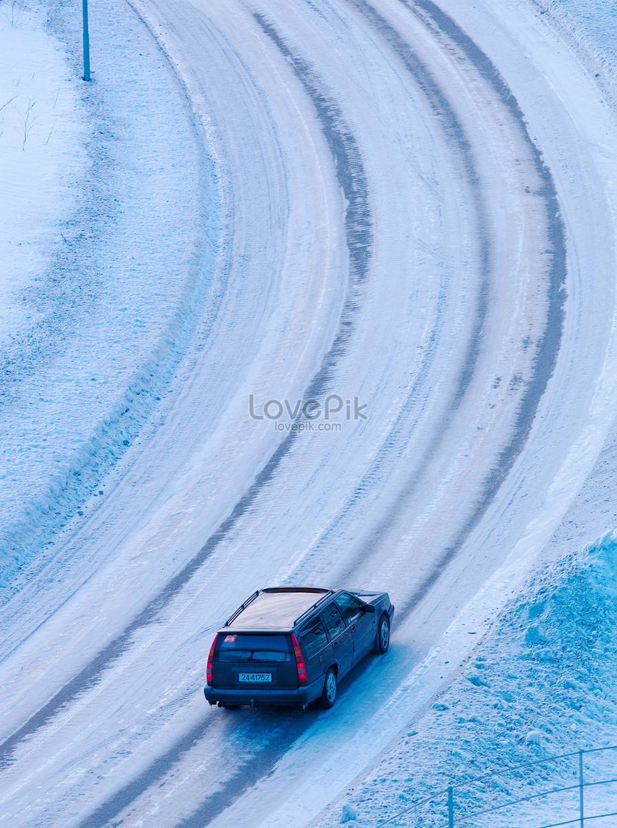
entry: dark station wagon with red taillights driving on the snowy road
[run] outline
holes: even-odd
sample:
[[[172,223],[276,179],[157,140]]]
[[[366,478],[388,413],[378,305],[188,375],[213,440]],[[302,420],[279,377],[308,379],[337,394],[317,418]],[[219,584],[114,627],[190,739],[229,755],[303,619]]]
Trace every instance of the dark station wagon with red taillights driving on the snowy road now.
[[[219,707],[332,707],[342,676],[388,650],[394,612],[387,592],[257,590],[216,634],[203,693]]]

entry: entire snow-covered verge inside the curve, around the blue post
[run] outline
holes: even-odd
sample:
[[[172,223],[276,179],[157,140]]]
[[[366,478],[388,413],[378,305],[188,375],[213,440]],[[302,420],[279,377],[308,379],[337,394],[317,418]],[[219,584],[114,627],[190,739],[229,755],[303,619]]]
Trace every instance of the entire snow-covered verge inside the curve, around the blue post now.
[[[191,339],[213,251],[207,162],[169,62],[125,3],[95,6],[85,84],[79,11],[2,4],[0,19],[5,588],[103,495]]]

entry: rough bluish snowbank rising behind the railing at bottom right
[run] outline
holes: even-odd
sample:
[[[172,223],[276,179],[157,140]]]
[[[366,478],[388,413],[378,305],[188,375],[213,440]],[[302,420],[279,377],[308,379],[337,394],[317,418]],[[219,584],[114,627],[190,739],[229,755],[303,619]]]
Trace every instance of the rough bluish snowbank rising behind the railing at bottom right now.
[[[445,795],[423,806],[413,803],[450,784],[456,786],[458,818],[560,783],[575,784],[577,757],[464,785],[521,763],[617,744],[616,665],[617,532],[545,566],[509,602],[452,685],[390,745],[374,776],[347,792],[357,823],[376,825],[400,814],[392,825],[408,825],[412,816],[414,825],[432,825],[441,814],[447,824]],[[585,763],[588,779],[610,778],[615,754],[587,754]],[[610,787],[589,789],[586,797],[590,815],[593,807],[595,813],[610,810],[611,798],[617,805]],[[520,825],[526,815],[529,825],[553,816],[565,820],[576,802],[569,795],[561,804],[536,801],[509,816],[504,811],[500,820],[476,817],[473,824],[507,825],[514,815]],[[315,825],[339,821],[340,809],[339,803]]]

